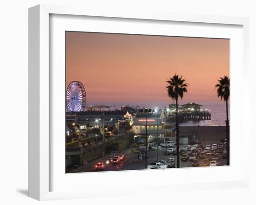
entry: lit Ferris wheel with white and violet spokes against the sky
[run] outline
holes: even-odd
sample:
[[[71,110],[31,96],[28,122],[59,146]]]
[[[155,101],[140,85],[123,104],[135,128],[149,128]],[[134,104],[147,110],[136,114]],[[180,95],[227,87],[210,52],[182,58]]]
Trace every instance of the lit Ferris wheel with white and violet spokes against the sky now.
[[[86,92],[79,81],[72,81],[67,87],[67,110],[73,112],[83,111],[86,104]]]

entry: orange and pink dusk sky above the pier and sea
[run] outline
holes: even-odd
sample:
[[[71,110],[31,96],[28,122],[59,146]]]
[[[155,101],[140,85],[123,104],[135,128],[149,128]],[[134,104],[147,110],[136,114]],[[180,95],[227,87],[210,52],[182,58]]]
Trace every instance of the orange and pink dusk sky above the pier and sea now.
[[[229,76],[229,40],[66,32],[66,86],[80,81],[87,107],[168,105],[175,73],[189,83],[179,104],[220,102],[214,88]]]

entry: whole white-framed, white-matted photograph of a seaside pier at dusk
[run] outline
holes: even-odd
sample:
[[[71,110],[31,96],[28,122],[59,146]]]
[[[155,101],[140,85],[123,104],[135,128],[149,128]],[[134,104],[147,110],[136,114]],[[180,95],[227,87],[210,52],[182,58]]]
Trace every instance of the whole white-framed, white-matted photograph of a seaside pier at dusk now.
[[[249,186],[248,50],[246,18],[30,8],[29,196]]]

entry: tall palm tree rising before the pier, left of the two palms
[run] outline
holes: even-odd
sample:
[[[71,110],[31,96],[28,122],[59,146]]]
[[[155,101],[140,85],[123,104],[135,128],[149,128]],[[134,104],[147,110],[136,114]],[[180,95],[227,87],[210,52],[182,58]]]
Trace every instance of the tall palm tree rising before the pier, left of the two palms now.
[[[185,79],[182,79],[182,76],[176,75],[166,81],[168,84],[166,86],[168,96],[176,101],[176,146],[177,146],[177,167],[180,167],[180,133],[179,133],[179,120],[178,120],[178,98],[182,99],[184,92],[187,92],[187,83]]]

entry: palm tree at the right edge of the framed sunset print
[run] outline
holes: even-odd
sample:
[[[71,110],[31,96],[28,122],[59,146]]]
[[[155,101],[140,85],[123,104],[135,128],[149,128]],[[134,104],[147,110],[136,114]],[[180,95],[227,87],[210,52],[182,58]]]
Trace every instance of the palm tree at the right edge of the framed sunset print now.
[[[229,101],[229,77],[220,77],[218,84],[215,86],[217,88],[218,97],[221,97],[226,101],[226,137],[227,137],[227,165],[229,165],[229,113],[228,113],[228,101]]]

